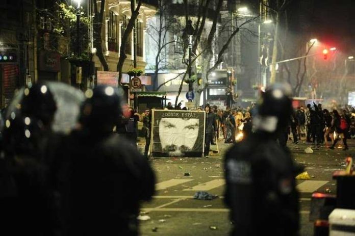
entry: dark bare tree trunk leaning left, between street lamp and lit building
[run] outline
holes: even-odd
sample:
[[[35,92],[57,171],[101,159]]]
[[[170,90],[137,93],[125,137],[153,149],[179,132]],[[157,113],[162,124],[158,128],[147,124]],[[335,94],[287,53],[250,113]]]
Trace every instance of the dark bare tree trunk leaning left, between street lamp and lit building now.
[[[96,48],[96,56],[100,60],[104,67],[104,71],[109,70],[106,57],[103,53],[103,41],[102,41],[102,28],[105,13],[105,0],[100,1],[100,11],[98,11],[97,0],[93,0],[95,17],[93,18],[93,30],[94,30],[94,47]]]

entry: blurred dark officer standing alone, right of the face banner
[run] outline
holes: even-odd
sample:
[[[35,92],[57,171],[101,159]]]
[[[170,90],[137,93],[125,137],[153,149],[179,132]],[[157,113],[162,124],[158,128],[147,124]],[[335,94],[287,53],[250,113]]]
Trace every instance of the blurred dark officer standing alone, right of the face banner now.
[[[225,158],[225,202],[234,223],[231,235],[297,235],[296,168],[276,139],[292,112],[286,85],[269,87],[253,119],[255,133],[235,144]]]

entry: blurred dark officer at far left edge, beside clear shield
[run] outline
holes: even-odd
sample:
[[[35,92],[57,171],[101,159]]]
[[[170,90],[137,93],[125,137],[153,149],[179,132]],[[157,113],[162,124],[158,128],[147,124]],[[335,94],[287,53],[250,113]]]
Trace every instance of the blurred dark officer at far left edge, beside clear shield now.
[[[2,228],[9,235],[58,235],[58,199],[46,154],[57,110],[49,88],[35,84],[14,99],[5,120],[0,160]]]

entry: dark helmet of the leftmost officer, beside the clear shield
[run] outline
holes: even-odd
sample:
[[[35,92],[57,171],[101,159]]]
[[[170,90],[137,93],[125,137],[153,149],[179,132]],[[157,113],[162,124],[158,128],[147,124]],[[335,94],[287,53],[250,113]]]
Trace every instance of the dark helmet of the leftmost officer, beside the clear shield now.
[[[50,125],[57,110],[57,104],[53,93],[45,84],[34,84],[23,90],[20,102],[22,116],[30,116],[42,121],[44,125]]]

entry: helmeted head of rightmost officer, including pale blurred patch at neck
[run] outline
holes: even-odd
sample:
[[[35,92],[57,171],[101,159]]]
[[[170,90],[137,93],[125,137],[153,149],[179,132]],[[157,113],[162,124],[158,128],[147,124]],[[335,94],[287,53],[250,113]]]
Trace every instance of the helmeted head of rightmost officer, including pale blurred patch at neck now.
[[[292,90],[287,84],[273,84],[258,101],[258,115],[254,119],[257,129],[269,133],[283,130],[292,114]]]

